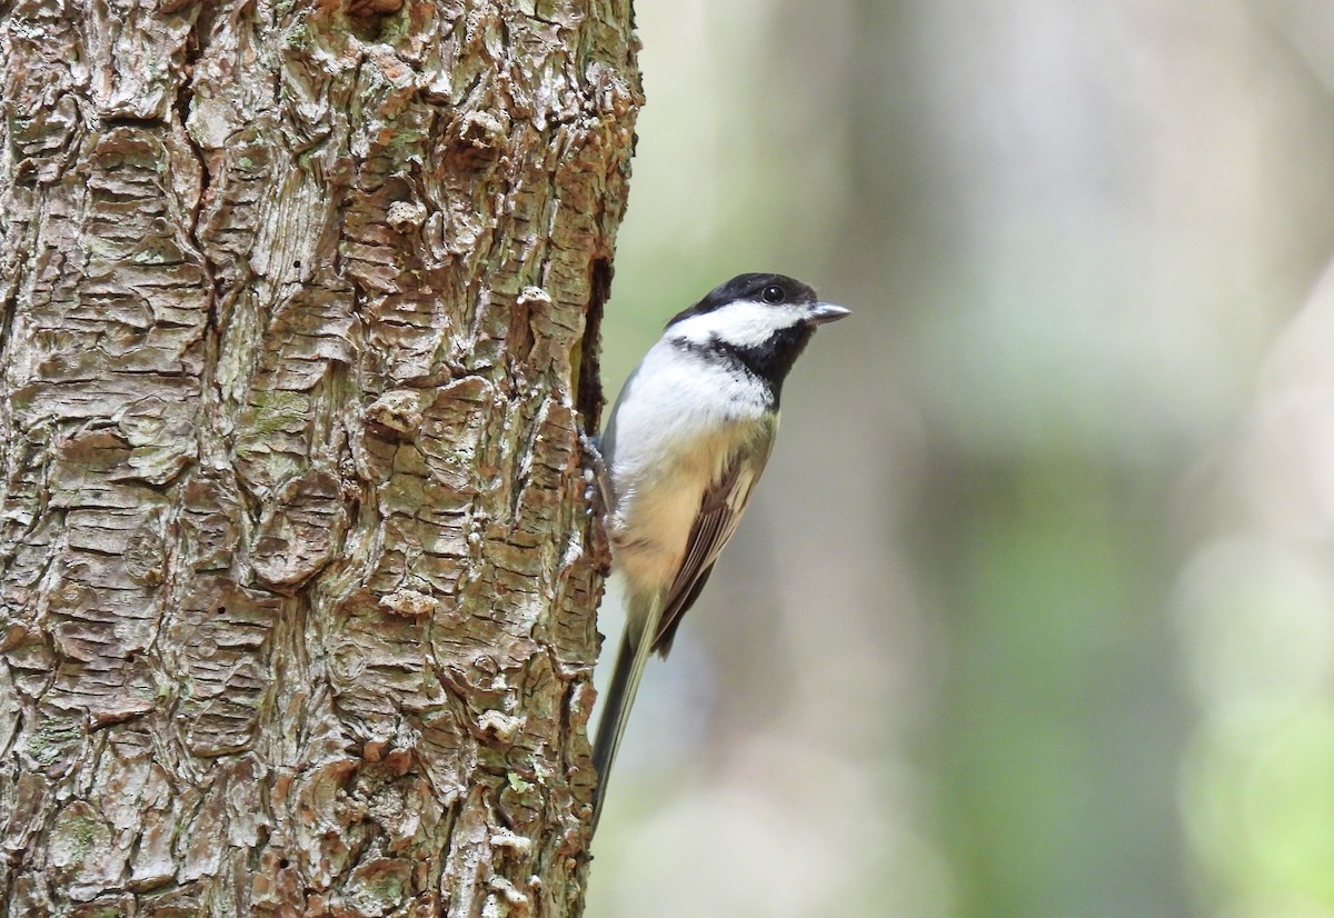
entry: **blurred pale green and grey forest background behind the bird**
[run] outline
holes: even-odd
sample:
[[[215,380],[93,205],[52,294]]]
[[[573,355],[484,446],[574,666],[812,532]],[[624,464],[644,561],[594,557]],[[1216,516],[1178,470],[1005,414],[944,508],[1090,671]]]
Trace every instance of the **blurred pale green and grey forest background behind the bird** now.
[[[855,315],[587,914],[1334,915],[1334,4],[636,7],[608,395],[740,271]]]

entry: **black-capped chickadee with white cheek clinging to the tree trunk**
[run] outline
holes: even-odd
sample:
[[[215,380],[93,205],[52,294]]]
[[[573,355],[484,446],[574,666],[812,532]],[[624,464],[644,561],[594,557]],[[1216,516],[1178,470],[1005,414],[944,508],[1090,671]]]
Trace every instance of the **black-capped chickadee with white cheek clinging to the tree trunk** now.
[[[799,280],[743,274],[667,323],[616,399],[602,454],[626,630],[594,747],[595,825],[648,652],[671,650],[736,532],[774,446],[787,372],[816,326],[846,315]]]

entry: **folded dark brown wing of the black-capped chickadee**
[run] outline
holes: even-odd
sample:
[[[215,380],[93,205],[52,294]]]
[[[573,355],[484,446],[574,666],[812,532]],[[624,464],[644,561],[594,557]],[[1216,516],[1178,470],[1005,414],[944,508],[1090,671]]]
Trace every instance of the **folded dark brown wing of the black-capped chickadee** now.
[[[736,534],[742,512],[750,502],[755,482],[764,471],[772,432],[767,432],[758,448],[740,450],[723,470],[723,474],[706,491],[699,504],[699,515],[686,540],[686,556],[676,571],[676,579],[663,600],[662,616],[658,619],[658,632],[652,648],[666,656],[671,650],[672,638],[682,616],[699,596],[700,588],[714,570],[714,562],[723,547]]]

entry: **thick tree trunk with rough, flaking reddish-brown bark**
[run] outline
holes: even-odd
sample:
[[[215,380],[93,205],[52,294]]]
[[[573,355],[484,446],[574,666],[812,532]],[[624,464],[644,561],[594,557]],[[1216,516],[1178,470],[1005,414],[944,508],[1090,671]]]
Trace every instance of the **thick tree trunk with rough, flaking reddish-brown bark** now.
[[[0,75],[8,914],[578,914],[630,0],[20,0]]]

